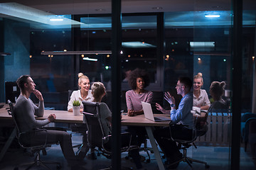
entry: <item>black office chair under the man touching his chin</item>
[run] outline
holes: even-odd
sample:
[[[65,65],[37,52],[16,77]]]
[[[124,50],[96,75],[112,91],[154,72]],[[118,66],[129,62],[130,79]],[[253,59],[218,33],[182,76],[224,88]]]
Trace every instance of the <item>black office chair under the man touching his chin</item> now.
[[[61,169],[60,163],[59,162],[45,162],[41,160],[40,157],[40,152],[42,151],[43,154],[46,154],[46,147],[50,147],[51,145],[55,145],[55,143],[53,144],[46,144],[47,142],[47,131],[40,129],[40,130],[31,130],[29,132],[21,132],[21,130],[19,129],[18,123],[16,121],[16,115],[15,115],[15,108],[13,103],[11,103],[10,100],[7,101],[7,103],[9,104],[9,110],[8,113],[12,116],[14,123],[16,125],[16,129],[17,129],[17,139],[18,139],[18,143],[19,145],[21,145],[21,147],[25,148],[25,149],[31,149],[32,153],[36,153],[36,157],[34,159],[34,162],[32,162],[31,164],[28,164],[28,168],[26,168],[26,170],[31,169],[33,166],[43,166],[46,169],[50,168],[48,166],[46,166],[46,164],[57,164],[56,169]],[[30,133],[33,132],[38,132],[38,131],[46,131],[46,140],[44,142],[42,142],[41,144],[37,144],[37,145],[31,145],[29,143],[23,142],[23,139],[25,139]],[[16,167],[16,169],[18,169]]]

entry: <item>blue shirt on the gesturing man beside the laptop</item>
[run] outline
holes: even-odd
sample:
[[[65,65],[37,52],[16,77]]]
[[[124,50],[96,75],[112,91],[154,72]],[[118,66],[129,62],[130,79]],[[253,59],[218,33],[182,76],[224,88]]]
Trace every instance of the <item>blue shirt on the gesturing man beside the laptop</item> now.
[[[193,127],[193,114],[191,113],[193,106],[193,95],[191,93],[186,94],[181,98],[181,102],[178,105],[178,110],[171,110],[171,123],[176,124],[178,122],[183,125]]]

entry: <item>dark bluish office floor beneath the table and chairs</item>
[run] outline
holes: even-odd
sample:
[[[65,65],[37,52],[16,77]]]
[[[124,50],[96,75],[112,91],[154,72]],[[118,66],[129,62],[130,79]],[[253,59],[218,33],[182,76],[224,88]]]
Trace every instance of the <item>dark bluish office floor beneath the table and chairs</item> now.
[[[82,136],[75,134],[73,135],[73,145],[79,144],[82,140]],[[148,142],[149,144],[149,142]],[[150,147],[150,144],[149,144]],[[210,169],[228,169],[228,160],[229,160],[229,148],[228,147],[201,147],[198,148],[190,147],[188,149],[188,157],[193,157],[193,159],[199,159],[208,162],[210,165]],[[241,148],[241,157],[240,157],[240,169],[256,169],[255,164],[252,161],[250,156],[250,152],[244,152],[244,149]],[[141,155],[146,157],[146,152],[140,152]],[[122,154],[122,166],[129,166],[135,169],[134,164],[131,160],[125,159],[127,153]],[[154,154],[150,154],[151,159],[154,159]],[[32,162],[34,157],[31,157],[28,152],[24,152],[22,148],[10,148],[8,152],[6,152],[3,160],[0,162],[0,169],[9,170],[14,169],[16,166],[20,166],[21,164],[26,164]],[[46,161],[55,161],[60,162],[63,166],[63,170],[69,170],[70,167],[67,166],[63,154],[61,152],[59,145],[53,145],[52,147],[47,149],[47,155],[41,156],[41,159]],[[106,166],[111,164],[110,159],[106,159],[104,156],[97,157],[96,160],[90,160],[85,158],[86,164],[81,169],[103,169]],[[144,169],[147,170],[157,170],[158,166],[156,164],[156,160],[151,160],[151,162],[146,163],[142,162]],[[193,163],[194,169],[205,169],[203,164]],[[56,166],[49,166],[51,169],[56,169]],[[26,169],[26,166],[20,166],[19,169]],[[43,168],[34,168],[34,169],[43,169]],[[185,162],[181,162],[178,165],[177,169],[191,169]]]

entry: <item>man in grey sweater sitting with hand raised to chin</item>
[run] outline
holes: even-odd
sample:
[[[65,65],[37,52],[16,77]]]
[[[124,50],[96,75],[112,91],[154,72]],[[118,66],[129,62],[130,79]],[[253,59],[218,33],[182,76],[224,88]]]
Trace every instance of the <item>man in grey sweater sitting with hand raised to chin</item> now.
[[[18,96],[15,104],[15,113],[18,125],[20,125],[21,132],[28,132],[43,128],[44,125],[53,122],[56,119],[55,114],[50,114],[46,120],[36,120],[35,115],[43,117],[44,114],[44,102],[43,96],[40,91],[35,89],[36,84],[29,75],[23,75],[16,81],[18,87],[21,90],[21,94]],[[31,93],[36,95],[39,99],[39,106],[36,106],[33,101],[29,98]],[[46,140],[47,133],[47,140]],[[46,144],[60,143],[60,147],[63,151],[65,159],[67,159],[70,166],[77,166],[78,160],[75,157],[75,153],[72,147],[72,141],[70,134],[61,130],[43,130],[34,132],[33,135],[30,133],[27,142],[30,144],[38,144],[45,142]],[[24,141],[26,142],[26,141]]]

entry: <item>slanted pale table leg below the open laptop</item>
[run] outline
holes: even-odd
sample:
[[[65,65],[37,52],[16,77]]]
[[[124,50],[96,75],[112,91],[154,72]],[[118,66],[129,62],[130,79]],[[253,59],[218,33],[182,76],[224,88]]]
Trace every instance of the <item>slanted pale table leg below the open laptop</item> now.
[[[161,156],[160,156],[160,153],[159,153],[159,149],[157,148],[157,145],[156,145],[156,141],[154,139],[154,135],[153,135],[153,130],[151,127],[145,127],[146,128],[146,133],[149,137],[149,141],[151,143],[151,147],[153,148],[153,151],[154,151],[154,156],[156,157],[156,161],[157,161],[157,164],[159,166],[159,170],[164,170],[164,164],[161,160]]]

